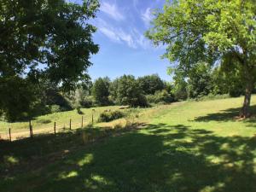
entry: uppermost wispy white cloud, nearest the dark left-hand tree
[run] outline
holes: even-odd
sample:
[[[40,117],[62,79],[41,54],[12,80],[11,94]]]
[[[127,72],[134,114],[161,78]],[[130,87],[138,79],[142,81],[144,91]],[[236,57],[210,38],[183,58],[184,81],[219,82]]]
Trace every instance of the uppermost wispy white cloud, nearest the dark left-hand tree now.
[[[115,4],[103,2],[100,10],[109,15],[114,20],[125,20],[125,16],[119,11]]]

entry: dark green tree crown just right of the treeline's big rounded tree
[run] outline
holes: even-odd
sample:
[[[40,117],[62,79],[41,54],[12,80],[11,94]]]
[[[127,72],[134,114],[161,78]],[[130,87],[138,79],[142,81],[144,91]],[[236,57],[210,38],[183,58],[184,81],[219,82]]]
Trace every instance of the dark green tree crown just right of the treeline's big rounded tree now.
[[[145,95],[153,95],[157,90],[163,90],[165,84],[157,74],[146,75],[137,79]]]

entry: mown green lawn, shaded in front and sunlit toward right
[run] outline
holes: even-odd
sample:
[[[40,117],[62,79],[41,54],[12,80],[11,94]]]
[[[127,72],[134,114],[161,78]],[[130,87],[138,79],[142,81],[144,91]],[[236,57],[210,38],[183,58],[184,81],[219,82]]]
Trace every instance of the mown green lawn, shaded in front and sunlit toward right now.
[[[141,109],[125,129],[0,143],[0,191],[255,192],[256,118],[236,119],[241,102],[174,103]]]

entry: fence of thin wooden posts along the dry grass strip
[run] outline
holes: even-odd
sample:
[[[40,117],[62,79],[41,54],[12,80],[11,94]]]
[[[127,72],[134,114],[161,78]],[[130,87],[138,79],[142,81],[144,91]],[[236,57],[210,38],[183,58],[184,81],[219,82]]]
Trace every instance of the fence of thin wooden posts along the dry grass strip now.
[[[34,137],[39,134],[57,134],[60,132],[68,130],[76,130],[86,125],[93,123],[93,118],[91,121],[84,121],[84,116],[81,116],[81,119],[67,119],[64,123],[63,121],[51,122],[47,125],[34,125],[33,121],[30,120],[27,122],[26,127],[17,128],[5,128],[0,131],[0,139],[14,141],[26,137]]]

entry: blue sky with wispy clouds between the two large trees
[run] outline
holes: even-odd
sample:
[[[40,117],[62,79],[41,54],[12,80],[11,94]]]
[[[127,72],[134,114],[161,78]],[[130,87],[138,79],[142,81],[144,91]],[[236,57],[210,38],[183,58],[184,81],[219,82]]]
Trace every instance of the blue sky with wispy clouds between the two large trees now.
[[[165,0],[101,0],[100,3],[100,11],[92,21],[97,27],[94,41],[100,51],[90,60],[94,64],[89,69],[91,79],[158,73],[162,79],[170,80],[166,74],[169,62],[160,59],[165,50],[154,47],[143,35],[150,26],[151,12],[161,9]]]

